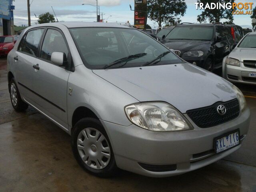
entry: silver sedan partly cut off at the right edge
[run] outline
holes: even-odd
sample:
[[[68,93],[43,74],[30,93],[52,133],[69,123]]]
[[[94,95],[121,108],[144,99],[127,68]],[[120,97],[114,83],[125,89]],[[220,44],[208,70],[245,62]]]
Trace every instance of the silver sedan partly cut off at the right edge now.
[[[222,76],[230,82],[256,84],[256,32],[246,34],[223,59]]]

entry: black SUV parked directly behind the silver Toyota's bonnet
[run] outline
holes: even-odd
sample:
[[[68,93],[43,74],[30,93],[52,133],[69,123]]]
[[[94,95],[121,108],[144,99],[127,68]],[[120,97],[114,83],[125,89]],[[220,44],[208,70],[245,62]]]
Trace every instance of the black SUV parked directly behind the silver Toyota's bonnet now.
[[[234,46],[224,24],[178,25],[161,42],[182,59],[209,71],[221,67]]]

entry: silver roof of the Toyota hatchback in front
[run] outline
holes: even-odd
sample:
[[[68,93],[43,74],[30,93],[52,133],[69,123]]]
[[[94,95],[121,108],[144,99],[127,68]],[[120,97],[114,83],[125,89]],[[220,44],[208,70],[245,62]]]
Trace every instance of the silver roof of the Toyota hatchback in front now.
[[[54,22],[54,23],[38,24],[38,25],[34,25],[34,26],[30,27],[30,28],[42,27],[42,26],[58,27],[60,25],[62,25],[62,26],[64,25],[67,28],[80,28],[80,27],[131,28],[130,26],[121,25],[119,23],[104,23],[104,22]]]

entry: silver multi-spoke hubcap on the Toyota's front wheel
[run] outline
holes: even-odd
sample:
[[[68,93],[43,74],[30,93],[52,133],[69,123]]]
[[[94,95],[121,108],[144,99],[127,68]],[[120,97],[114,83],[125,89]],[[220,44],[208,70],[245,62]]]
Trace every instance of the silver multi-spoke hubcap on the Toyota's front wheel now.
[[[77,148],[83,162],[93,169],[103,169],[110,161],[110,146],[105,136],[94,128],[84,128],[77,138]]]

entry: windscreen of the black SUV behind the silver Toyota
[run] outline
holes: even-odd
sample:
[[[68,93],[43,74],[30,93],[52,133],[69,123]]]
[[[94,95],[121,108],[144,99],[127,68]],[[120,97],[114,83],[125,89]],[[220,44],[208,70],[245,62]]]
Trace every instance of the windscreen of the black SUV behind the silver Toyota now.
[[[213,32],[213,26],[176,26],[165,39],[211,40]]]

